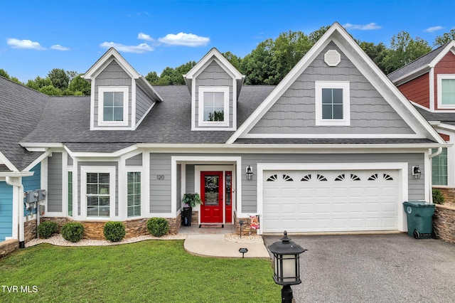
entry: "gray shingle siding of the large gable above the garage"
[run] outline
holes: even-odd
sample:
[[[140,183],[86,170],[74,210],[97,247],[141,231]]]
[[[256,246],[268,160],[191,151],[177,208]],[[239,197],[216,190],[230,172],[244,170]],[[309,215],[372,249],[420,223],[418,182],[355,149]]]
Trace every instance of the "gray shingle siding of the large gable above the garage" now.
[[[336,67],[330,67],[323,61],[324,54],[330,49],[341,54],[341,63]],[[316,81],[349,81],[350,126],[316,126]],[[326,46],[250,131],[250,134],[413,133],[333,42]]]

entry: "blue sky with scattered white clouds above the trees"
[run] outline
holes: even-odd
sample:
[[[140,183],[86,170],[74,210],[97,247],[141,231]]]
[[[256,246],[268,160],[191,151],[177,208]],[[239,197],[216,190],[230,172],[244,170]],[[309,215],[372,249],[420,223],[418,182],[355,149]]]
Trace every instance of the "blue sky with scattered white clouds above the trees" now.
[[[1,0],[0,68],[23,82],[53,68],[85,73],[114,46],[145,76],[213,47],[243,57],[279,33],[336,21],[360,41],[389,46],[407,31],[432,46],[455,28],[455,0]]]

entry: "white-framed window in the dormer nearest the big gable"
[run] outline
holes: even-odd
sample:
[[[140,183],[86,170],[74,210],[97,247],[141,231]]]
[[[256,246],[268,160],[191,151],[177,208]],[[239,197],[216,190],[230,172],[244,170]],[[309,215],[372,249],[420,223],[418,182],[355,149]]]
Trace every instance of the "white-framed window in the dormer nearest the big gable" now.
[[[200,126],[229,126],[229,87],[199,87]]]

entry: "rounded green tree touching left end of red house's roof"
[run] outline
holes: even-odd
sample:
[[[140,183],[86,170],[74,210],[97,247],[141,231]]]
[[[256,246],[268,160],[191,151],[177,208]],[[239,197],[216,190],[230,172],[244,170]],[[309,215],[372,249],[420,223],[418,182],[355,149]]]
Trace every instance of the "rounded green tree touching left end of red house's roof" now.
[[[427,41],[419,37],[413,39],[409,33],[400,31],[397,35],[392,36],[390,50],[380,64],[385,73],[392,73],[431,50]]]

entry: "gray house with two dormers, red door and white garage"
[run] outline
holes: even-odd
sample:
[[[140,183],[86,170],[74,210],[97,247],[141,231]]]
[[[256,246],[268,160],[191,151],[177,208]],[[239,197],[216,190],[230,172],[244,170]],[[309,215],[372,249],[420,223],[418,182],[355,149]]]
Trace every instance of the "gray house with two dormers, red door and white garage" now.
[[[41,115],[9,144],[25,163],[1,149],[0,177],[40,164],[43,219],[80,221],[90,238],[107,220],[145,233],[151,217],[176,233],[183,193],[203,198],[196,223],[259,215],[259,233],[405,231],[402,202],[429,200],[429,149],[446,142],[340,24],[277,86],[243,85],[215,48],[183,77],[151,87],[107,50],[84,75],[91,96],[36,93]],[[31,93],[0,81],[17,102]]]

